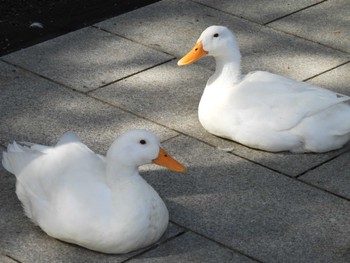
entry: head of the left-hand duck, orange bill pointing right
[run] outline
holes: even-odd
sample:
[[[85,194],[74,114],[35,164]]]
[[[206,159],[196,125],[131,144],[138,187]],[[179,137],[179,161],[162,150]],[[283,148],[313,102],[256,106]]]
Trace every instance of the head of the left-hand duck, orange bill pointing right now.
[[[155,163],[175,172],[186,171],[182,164],[161,148],[159,138],[147,130],[130,130],[121,135],[109,148],[107,161],[127,167]]]

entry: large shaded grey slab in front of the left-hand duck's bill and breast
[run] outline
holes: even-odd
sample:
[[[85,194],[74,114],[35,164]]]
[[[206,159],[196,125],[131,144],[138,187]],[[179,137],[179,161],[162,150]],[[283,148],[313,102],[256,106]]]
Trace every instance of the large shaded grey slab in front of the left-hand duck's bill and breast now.
[[[144,177],[176,224],[262,262],[349,262],[348,201],[191,138],[166,146],[187,173]]]

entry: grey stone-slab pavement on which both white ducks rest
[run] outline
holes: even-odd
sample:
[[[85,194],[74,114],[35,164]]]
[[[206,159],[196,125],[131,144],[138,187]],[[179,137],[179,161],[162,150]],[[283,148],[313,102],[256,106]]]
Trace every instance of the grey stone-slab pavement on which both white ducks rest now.
[[[141,168],[169,228],[149,248],[105,255],[34,226],[0,168],[0,262],[350,262],[350,148],[276,154],[210,135],[197,106],[214,61],[176,65],[202,30],[225,25],[244,73],[350,95],[349,13],[348,0],[163,0],[1,57],[0,152],[70,130],[105,153],[123,131],[146,128],[188,171]]]

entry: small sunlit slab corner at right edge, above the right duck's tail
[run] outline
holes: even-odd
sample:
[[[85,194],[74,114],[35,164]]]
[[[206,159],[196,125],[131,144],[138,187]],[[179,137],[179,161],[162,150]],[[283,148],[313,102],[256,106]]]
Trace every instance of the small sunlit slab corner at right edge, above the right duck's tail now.
[[[307,82],[350,96],[350,63],[323,73]]]

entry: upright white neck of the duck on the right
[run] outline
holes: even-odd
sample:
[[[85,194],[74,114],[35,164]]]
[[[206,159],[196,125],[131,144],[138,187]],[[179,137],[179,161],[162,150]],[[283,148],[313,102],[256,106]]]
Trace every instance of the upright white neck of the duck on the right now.
[[[239,51],[215,56],[216,69],[208,84],[215,86],[232,86],[241,81],[241,54]]]

